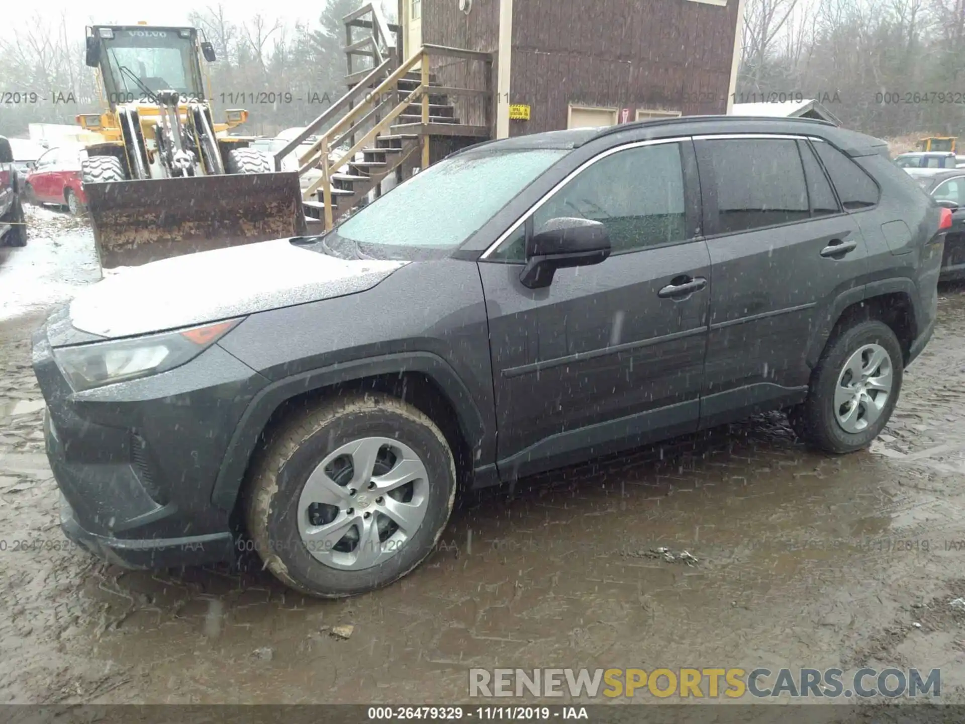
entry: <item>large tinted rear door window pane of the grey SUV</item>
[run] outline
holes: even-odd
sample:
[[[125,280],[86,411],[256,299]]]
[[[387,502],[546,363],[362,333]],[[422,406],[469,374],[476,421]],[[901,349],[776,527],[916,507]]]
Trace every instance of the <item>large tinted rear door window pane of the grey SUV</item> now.
[[[706,142],[717,181],[718,232],[733,234],[810,217],[797,142],[720,139]]]

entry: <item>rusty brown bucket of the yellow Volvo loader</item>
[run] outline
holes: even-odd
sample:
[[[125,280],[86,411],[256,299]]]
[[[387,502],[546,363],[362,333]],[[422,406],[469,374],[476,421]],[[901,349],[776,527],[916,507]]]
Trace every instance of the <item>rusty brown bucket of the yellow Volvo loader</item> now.
[[[306,231],[298,174],[229,174],[86,183],[105,269]]]

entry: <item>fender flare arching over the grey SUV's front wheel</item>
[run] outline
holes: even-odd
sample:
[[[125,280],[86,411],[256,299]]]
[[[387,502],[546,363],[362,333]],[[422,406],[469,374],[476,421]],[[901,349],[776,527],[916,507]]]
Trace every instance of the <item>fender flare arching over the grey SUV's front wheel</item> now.
[[[432,379],[455,409],[459,428],[473,450],[474,457],[487,434],[483,415],[455,370],[442,357],[430,352],[386,354],[368,359],[341,362],[284,377],[262,387],[252,399],[234,428],[211,491],[211,502],[224,511],[234,509],[248,461],[271,415],[279,405],[293,397],[322,387],[351,382],[364,377],[422,373]]]

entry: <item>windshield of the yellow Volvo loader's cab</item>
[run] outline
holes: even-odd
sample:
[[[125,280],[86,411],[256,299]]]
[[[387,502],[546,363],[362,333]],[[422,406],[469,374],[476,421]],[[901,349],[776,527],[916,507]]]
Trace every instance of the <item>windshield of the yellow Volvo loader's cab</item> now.
[[[108,99],[123,103],[146,97],[147,91],[177,91],[184,97],[205,96],[191,37],[175,29],[118,28],[103,39],[103,70]]]

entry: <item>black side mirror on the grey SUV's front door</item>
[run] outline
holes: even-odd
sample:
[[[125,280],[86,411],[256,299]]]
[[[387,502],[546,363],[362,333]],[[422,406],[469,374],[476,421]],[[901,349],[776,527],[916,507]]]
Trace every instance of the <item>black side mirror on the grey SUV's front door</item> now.
[[[610,235],[600,222],[550,219],[527,242],[519,281],[529,289],[548,287],[557,269],[599,264],[609,256]]]

